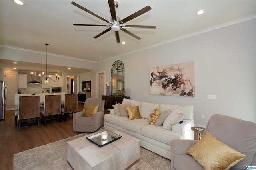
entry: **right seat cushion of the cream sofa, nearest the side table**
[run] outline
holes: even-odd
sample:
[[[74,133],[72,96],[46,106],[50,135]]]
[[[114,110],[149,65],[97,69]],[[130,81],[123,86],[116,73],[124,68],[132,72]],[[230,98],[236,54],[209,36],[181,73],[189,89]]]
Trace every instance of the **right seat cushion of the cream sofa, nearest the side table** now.
[[[182,135],[172,131],[166,131],[162,126],[144,125],[141,127],[141,135],[155,139],[170,145],[173,139],[182,139]]]

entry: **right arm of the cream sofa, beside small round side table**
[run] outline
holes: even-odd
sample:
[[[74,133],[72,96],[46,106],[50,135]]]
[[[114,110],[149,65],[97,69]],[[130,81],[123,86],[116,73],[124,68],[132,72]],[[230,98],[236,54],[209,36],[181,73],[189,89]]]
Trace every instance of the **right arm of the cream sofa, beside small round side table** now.
[[[177,123],[172,125],[172,132],[179,133],[182,135],[183,139],[194,140],[194,131],[191,130],[191,127],[193,126],[195,126],[194,119],[186,120],[185,123]]]

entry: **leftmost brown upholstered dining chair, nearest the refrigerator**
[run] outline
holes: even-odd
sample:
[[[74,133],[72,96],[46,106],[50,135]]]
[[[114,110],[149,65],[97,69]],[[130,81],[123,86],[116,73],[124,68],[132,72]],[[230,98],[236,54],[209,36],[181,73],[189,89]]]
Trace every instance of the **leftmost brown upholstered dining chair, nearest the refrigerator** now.
[[[20,96],[19,99],[19,131],[21,130],[22,122],[38,122],[40,115],[40,96]]]

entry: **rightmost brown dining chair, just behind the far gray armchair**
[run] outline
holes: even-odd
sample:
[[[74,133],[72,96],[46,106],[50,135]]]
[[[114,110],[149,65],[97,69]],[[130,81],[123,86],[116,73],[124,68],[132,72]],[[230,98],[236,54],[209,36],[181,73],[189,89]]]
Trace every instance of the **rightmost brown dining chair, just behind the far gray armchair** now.
[[[61,113],[64,115],[64,121],[66,121],[69,114],[76,113],[78,111],[78,94],[65,94],[64,106],[61,109]]]

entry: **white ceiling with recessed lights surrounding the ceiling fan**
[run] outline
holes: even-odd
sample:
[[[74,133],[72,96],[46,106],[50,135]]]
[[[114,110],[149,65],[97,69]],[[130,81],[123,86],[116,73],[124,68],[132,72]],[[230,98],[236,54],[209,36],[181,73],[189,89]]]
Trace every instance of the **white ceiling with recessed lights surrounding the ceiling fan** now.
[[[74,26],[73,23],[107,23],[72,5],[72,0],[23,1],[25,5],[20,6],[13,0],[0,0],[2,47],[45,52],[44,44],[48,43],[48,53],[94,62],[172,41],[184,35],[245,17],[253,17],[256,14],[256,0],[118,0],[116,14],[120,19],[145,6],[152,8],[126,24],[156,26],[156,29],[127,28],[141,37],[141,40],[119,31],[120,41],[126,42],[122,45],[116,43],[113,30],[94,39],[94,36],[108,27]],[[108,0],[74,2],[110,21]],[[199,9],[205,10],[201,16],[195,14]],[[10,61],[9,63],[12,64]],[[26,62],[24,64],[33,65]],[[0,56],[0,67],[3,65],[9,66],[8,61],[1,59]],[[40,66],[45,68],[44,63],[36,67]],[[86,71],[88,70],[74,69],[73,73]]]

